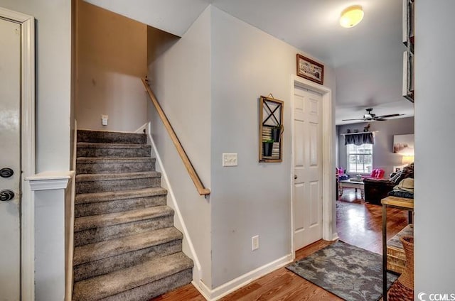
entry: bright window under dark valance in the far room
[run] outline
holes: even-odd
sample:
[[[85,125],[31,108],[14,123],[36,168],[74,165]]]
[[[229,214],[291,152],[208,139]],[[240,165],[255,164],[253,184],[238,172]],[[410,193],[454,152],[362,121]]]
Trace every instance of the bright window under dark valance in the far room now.
[[[371,173],[373,170],[373,144],[348,144],[348,173]]]

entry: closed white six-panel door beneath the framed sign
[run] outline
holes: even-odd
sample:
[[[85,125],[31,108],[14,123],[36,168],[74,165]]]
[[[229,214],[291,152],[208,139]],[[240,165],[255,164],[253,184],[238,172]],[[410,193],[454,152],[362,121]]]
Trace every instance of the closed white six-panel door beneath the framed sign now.
[[[322,96],[294,89],[294,251],[322,239]]]

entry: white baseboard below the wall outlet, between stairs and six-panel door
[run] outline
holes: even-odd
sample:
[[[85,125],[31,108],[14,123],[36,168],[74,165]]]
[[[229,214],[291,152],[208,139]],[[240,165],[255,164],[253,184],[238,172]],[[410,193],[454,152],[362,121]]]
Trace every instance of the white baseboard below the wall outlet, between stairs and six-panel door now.
[[[214,288],[210,290],[207,288],[203,283],[202,288],[198,288],[197,285],[195,287],[199,290],[199,292],[205,297],[205,299],[209,301],[219,300],[226,295],[229,295],[231,292],[242,288],[243,286],[247,285],[248,283],[252,283],[253,281],[261,278],[268,273],[273,272],[283,266],[292,262],[292,254],[288,254],[287,256],[283,256],[282,258],[278,258],[276,261],[272,261],[271,263],[267,263],[264,266],[261,266],[255,270],[252,270],[246,274],[241,275],[235,279],[230,280],[228,283],[218,286],[218,288]]]

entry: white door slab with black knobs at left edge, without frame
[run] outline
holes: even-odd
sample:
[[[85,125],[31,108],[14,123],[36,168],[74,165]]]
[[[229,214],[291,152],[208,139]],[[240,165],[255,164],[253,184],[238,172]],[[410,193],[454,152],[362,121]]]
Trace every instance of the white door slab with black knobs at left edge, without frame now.
[[[21,295],[21,25],[0,18],[0,37],[0,300],[16,301]]]

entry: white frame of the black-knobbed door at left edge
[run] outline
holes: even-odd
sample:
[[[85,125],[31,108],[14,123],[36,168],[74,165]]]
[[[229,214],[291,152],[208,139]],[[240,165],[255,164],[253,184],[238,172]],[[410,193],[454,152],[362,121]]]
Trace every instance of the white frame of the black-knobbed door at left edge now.
[[[35,300],[34,205],[26,177],[35,174],[35,18],[0,7],[21,24],[21,300]]]

